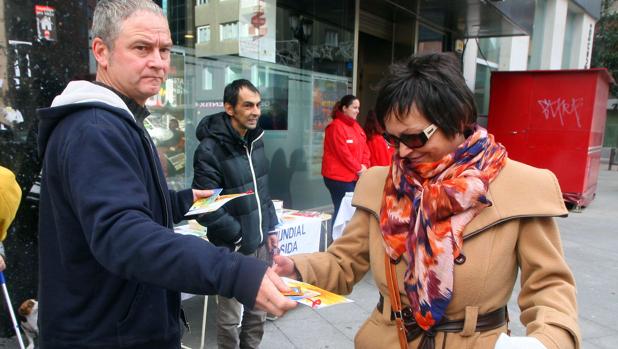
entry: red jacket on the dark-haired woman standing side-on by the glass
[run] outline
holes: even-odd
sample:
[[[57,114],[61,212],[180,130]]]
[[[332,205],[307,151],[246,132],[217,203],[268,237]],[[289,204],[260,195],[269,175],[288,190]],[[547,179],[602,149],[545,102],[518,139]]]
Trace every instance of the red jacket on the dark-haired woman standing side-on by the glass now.
[[[341,182],[358,179],[361,165],[369,168],[369,148],[365,131],[356,120],[343,113],[326,126],[322,176]]]

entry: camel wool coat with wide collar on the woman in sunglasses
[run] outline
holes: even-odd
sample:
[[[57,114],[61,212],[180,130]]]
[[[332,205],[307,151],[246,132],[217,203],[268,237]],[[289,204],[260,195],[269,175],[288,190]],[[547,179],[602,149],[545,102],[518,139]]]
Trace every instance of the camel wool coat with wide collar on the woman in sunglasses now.
[[[369,169],[357,184],[357,208],[341,238],[326,252],[292,256],[303,281],[349,294],[371,269],[384,297],[384,314],[374,309],[354,339],[356,348],[399,348],[384,265],[384,245],[378,222],[388,167]],[[463,264],[455,264],[453,297],[446,309],[449,320],[464,320],[459,333],[436,334],[436,348],[493,349],[507,326],[475,332],[478,315],[504,307],[518,271],[518,303],[527,335],[548,349],[580,347],[575,280],[564,259],[554,217],[566,216],[560,188],[548,170],[513,160],[490,184],[492,206],[485,208],[464,230]],[[409,304],[403,288],[407,256],[397,265],[402,306]],[[376,294],[376,303],[378,301]],[[511,319],[516,320],[516,319]],[[446,335],[446,336],[445,336]],[[420,337],[408,343],[417,348]]]

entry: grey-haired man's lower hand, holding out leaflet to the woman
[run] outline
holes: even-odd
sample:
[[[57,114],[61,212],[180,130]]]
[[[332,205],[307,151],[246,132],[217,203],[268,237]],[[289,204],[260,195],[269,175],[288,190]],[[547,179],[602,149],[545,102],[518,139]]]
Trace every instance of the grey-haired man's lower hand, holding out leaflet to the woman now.
[[[281,292],[289,291],[290,288],[281,278],[271,268],[268,268],[255,299],[255,307],[275,316],[281,316],[296,307],[296,302],[281,294]]]

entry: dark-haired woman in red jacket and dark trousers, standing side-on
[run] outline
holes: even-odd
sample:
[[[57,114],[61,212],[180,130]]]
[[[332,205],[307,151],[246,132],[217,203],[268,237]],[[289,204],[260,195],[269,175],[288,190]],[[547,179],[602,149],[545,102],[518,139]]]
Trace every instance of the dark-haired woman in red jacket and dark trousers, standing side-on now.
[[[354,191],[358,177],[369,167],[367,137],[356,122],[359,108],[358,98],[343,96],[333,108],[333,121],[326,126],[322,176],[335,206],[334,217],[345,193]]]

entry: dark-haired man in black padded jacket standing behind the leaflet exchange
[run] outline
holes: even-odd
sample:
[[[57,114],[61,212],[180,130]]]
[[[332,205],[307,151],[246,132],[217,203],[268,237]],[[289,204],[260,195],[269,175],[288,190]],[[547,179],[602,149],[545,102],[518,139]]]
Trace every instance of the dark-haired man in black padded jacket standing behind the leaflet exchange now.
[[[193,188],[222,188],[222,194],[252,190],[254,195],[230,201],[198,221],[208,226],[208,239],[245,255],[272,263],[270,251],[277,246],[275,208],[268,193],[268,164],[260,118],[260,93],[248,80],[225,87],[225,112],[205,117],[197,127],[200,145],[193,158]],[[269,234],[272,232],[272,234]],[[257,348],[264,334],[266,313],[246,309],[240,334],[240,304],[218,297],[217,342],[219,348]]]

